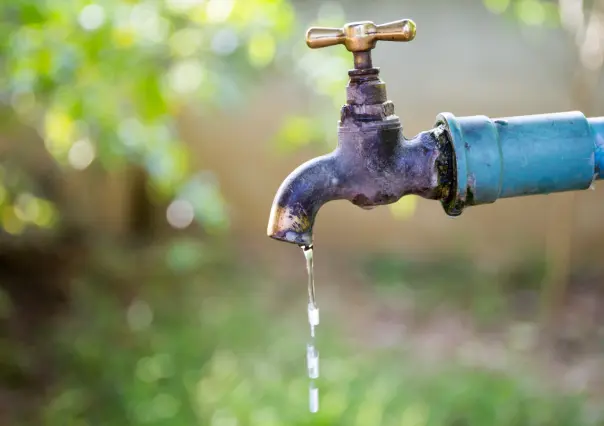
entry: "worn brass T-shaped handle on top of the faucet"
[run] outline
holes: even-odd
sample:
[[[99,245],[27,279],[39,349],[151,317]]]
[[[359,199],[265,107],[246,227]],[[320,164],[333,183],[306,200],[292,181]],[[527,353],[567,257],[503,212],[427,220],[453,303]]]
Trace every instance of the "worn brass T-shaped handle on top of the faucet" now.
[[[352,22],[343,28],[310,28],[306,44],[311,49],[343,44],[349,52],[367,52],[378,40],[411,41],[415,38],[415,23],[410,19],[375,25],[373,22]]]

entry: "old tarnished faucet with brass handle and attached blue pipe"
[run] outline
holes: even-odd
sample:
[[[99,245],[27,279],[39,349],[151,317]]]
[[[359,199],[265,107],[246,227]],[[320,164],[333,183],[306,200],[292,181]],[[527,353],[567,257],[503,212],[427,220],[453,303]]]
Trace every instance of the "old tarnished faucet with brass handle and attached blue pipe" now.
[[[409,194],[440,201],[445,213],[499,198],[589,188],[604,178],[604,117],[563,112],[492,119],[437,116],[434,128],[407,139],[371,60],[378,41],[412,41],[409,19],[343,28],[310,28],[311,49],[342,44],[352,53],[338,144],[295,169],[273,201],[267,234],[309,247],[325,203],[371,209]]]

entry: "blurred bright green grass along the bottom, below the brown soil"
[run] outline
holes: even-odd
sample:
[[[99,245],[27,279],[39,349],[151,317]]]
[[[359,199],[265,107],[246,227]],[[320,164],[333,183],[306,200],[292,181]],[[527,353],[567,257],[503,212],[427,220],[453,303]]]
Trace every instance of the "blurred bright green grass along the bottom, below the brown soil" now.
[[[303,317],[272,318],[259,276],[228,262],[151,275],[128,299],[94,277],[76,287],[74,310],[53,336],[58,380],[43,425],[597,424],[581,395],[536,378],[353,353],[328,326],[321,408],[310,414]]]

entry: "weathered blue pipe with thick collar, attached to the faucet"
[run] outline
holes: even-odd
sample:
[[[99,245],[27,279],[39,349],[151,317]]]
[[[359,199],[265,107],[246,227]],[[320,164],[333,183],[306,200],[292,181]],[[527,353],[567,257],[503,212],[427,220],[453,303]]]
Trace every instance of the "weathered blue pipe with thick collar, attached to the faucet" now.
[[[443,200],[456,216],[498,198],[587,189],[604,170],[604,119],[580,112],[491,119],[443,113],[456,185]]]

